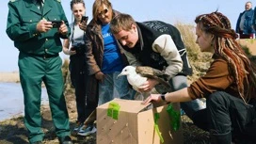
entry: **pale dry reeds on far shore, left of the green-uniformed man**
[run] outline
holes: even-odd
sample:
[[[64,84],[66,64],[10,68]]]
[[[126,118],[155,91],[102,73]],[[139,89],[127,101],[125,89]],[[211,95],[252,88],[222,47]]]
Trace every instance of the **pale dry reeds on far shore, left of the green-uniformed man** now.
[[[0,72],[0,82],[20,83],[19,72]]]

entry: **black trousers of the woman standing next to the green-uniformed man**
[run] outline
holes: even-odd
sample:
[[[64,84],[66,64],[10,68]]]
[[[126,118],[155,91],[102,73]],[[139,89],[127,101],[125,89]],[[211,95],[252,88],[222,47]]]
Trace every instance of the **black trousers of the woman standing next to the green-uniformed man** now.
[[[70,72],[72,86],[75,88],[75,101],[77,110],[77,120],[84,122],[93,111],[91,103],[87,99],[88,70],[86,57],[74,55],[70,57]]]

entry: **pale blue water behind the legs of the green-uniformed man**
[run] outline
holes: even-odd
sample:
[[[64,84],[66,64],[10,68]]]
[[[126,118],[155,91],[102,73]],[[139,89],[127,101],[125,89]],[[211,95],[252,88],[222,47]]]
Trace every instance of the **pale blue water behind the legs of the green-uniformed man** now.
[[[41,104],[48,104],[46,88],[41,89]],[[24,116],[24,94],[20,83],[0,83],[0,121]]]

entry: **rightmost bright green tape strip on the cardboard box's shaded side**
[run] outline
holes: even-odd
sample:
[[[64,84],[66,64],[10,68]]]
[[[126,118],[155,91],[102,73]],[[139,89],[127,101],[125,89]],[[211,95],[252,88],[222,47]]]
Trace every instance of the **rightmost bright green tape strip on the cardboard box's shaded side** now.
[[[181,112],[175,111],[171,104],[168,104],[167,112],[172,130],[179,130],[181,126]]]

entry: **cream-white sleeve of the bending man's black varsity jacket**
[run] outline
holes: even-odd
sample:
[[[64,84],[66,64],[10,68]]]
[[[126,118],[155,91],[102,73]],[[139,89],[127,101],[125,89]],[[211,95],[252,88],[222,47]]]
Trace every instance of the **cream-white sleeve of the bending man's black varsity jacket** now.
[[[152,50],[156,53],[160,53],[167,63],[168,67],[166,73],[169,78],[174,77],[178,72],[183,70],[183,60],[180,53],[169,35],[161,35],[152,43]]]

